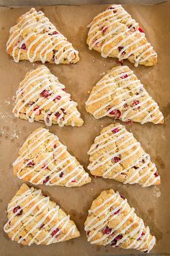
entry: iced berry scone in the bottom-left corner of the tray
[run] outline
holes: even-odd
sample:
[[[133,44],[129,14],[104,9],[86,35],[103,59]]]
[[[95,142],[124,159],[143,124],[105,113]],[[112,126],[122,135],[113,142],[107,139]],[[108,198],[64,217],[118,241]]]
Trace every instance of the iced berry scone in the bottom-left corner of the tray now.
[[[49,196],[22,184],[7,208],[4,231],[12,241],[24,245],[52,244],[80,236],[79,230]]]

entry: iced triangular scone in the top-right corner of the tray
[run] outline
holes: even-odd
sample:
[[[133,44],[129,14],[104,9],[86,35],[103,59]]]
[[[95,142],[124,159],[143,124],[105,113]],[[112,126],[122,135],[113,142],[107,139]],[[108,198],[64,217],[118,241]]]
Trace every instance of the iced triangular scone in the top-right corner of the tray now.
[[[97,50],[102,57],[128,59],[135,66],[157,63],[157,54],[146,40],[143,29],[120,4],[109,6],[94,17],[88,27],[86,43],[90,50]]]

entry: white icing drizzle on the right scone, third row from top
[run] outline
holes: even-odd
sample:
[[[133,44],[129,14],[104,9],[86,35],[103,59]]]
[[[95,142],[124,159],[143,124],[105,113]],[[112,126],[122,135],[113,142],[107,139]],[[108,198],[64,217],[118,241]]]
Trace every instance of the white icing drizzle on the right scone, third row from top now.
[[[112,133],[114,129],[118,130],[117,133]],[[155,184],[156,181],[160,179],[160,176],[154,175],[155,173],[157,173],[156,165],[151,162],[150,156],[144,151],[143,155],[138,157],[135,162],[130,162],[131,164],[127,168],[120,170],[120,172],[116,172],[115,175],[112,175],[112,177],[109,175],[109,173],[112,172],[119,164],[123,164],[123,162],[125,162],[125,160],[127,159],[132,159],[132,156],[138,154],[141,149],[140,143],[136,140],[134,141],[135,138],[133,137],[133,133],[129,133],[122,125],[116,125],[115,127],[109,128],[107,129],[107,131],[97,136],[95,138],[94,144],[91,146],[87,154],[89,154],[89,156],[91,157],[99,152],[101,149],[107,149],[107,146],[112,145],[117,141],[120,141],[120,139],[122,138],[125,139],[123,139],[122,143],[119,144],[119,146],[116,146],[115,149],[107,151],[105,150],[103,154],[99,153],[97,159],[94,156],[94,161],[91,162],[87,168],[90,171],[94,171],[102,165],[112,161],[115,156],[119,156],[121,154],[121,156],[123,157],[118,162],[112,163],[112,166],[107,168],[102,177],[116,179],[119,175],[126,175],[126,173],[130,171],[130,169],[139,165],[139,167],[135,169],[135,172],[132,172],[132,174],[128,176],[128,178],[126,178],[123,183],[140,183],[140,180],[143,180],[143,178],[145,180],[146,177],[148,177],[142,184],[142,187],[148,187]],[[131,140],[132,142],[130,142]],[[126,146],[125,149],[118,150],[121,146],[126,145],[129,142],[130,145]],[[130,152],[128,153],[128,151]],[[147,169],[145,172],[143,172],[144,168]],[[143,174],[141,174],[141,172],[143,172]]]

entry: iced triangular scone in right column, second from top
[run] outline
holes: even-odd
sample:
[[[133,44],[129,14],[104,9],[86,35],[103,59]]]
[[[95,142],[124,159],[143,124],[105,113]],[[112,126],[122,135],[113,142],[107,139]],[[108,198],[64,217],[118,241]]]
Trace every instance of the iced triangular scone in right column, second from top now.
[[[164,123],[158,104],[128,66],[107,71],[92,89],[86,111],[97,119],[109,116],[123,122]]]

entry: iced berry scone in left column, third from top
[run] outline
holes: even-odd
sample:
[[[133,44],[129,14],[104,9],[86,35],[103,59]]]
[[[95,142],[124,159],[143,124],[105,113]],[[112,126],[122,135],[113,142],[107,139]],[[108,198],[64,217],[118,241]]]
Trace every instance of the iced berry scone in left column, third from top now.
[[[36,185],[80,187],[91,182],[76,157],[45,128],[37,128],[27,138],[13,166],[14,175]]]

